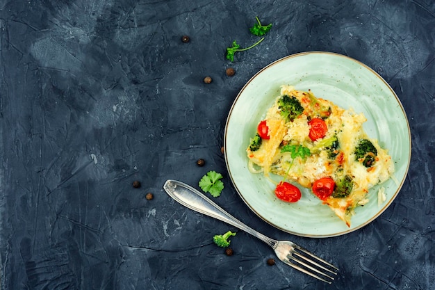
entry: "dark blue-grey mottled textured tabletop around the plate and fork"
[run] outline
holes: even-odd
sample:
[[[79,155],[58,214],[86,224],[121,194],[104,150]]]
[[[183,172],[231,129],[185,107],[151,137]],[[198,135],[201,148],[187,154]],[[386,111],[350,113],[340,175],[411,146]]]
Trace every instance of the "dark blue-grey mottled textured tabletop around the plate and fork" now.
[[[256,15],[272,31],[230,63],[233,40],[258,39]],[[434,1],[2,0],[0,27],[1,289],[435,289]],[[301,51],[366,63],[409,118],[402,191],[344,236],[301,238],[263,222],[220,151],[238,91]],[[272,250],[243,232],[224,255],[211,237],[233,228],[162,188],[168,178],[197,186],[208,170],[224,174],[218,204],[332,261],[336,282],[268,266]]]

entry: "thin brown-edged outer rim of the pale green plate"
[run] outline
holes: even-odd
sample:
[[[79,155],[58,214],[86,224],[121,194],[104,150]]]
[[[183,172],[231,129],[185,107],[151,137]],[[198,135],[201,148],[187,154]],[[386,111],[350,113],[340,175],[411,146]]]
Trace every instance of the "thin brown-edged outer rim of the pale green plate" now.
[[[397,190],[395,191],[394,195],[392,196],[392,198],[390,200],[388,200],[388,202],[386,204],[384,204],[384,206],[379,209],[379,211],[377,211],[377,214],[375,214],[374,216],[372,216],[371,218],[369,218],[368,220],[366,220],[365,223],[362,223],[361,225],[358,225],[356,227],[341,231],[341,232],[336,232],[333,234],[304,234],[304,233],[299,233],[299,232],[295,232],[292,231],[290,229],[285,229],[283,227],[280,227],[278,225],[275,225],[274,223],[270,222],[270,220],[268,220],[267,218],[263,217],[261,214],[258,213],[258,211],[256,211],[256,209],[254,209],[251,204],[249,204],[247,202],[247,200],[243,197],[243,194],[240,193],[240,190],[236,184],[236,182],[234,182],[233,179],[233,174],[231,173],[231,169],[229,168],[229,159],[228,159],[228,154],[227,154],[227,140],[228,140],[228,126],[229,126],[229,122],[231,119],[231,113],[233,113],[233,109],[236,106],[236,103],[238,102],[238,100],[240,99],[240,96],[242,95],[243,91],[247,88],[247,86],[249,86],[250,83],[252,83],[252,81],[262,72],[264,72],[265,70],[268,70],[270,67],[272,67],[273,65],[277,65],[277,63],[281,63],[283,61],[286,61],[290,58],[297,58],[300,56],[307,56],[307,55],[313,55],[313,54],[325,54],[325,55],[330,55],[330,56],[336,56],[336,57],[343,57],[346,58],[347,61],[352,61],[358,65],[361,65],[361,67],[366,68],[366,70],[368,70],[369,72],[371,72],[372,74],[374,74],[382,83],[384,83],[384,86],[386,86],[386,88],[388,88],[388,90],[392,93],[392,95],[395,97],[395,100],[397,102],[397,104],[399,104],[402,113],[404,115],[404,119],[406,120],[407,123],[407,136],[409,139],[409,152],[408,152],[408,158],[407,158],[407,166],[406,169],[404,170],[404,177],[402,178],[402,180],[400,180],[400,184],[398,184],[397,186]],[[378,218],[381,214],[384,213],[384,211],[386,211],[386,209],[388,207],[390,207],[390,205],[393,203],[393,201],[395,200],[395,198],[397,198],[397,195],[399,194],[399,192],[402,190],[402,186],[404,185],[404,182],[406,180],[406,177],[408,175],[409,172],[409,166],[411,163],[411,154],[412,154],[412,140],[411,140],[411,127],[409,126],[409,120],[407,117],[407,113],[404,109],[404,106],[402,104],[402,102],[400,101],[399,97],[397,97],[397,94],[395,93],[395,91],[393,90],[393,88],[391,88],[390,84],[385,81],[385,79],[379,75],[377,72],[375,72],[375,70],[373,70],[371,67],[369,67],[368,65],[366,65],[365,63],[362,63],[361,61],[358,61],[350,56],[345,56],[343,54],[338,54],[336,52],[330,52],[330,51],[304,51],[304,52],[299,52],[296,54],[290,54],[288,56],[284,56],[282,58],[277,59],[276,61],[273,61],[272,63],[266,65],[265,67],[263,67],[261,70],[259,70],[258,72],[256,72],[246,83],[245,85],[240,89],[240,91],[238,92],[238,95],[236,96],[236,98],[233,100],[233,103],[231,104],[231,108],[229,109],[229,113],[227,115],[227,120],[225,122],[225,127],[224,127],[224,160],[225,160],[225,164],[227,167],[227,172],[229,174],[229,177],[231,179],[231,183],[233,184],[234,188],[236,189],[236,192],[238,193],[239,197],[243,200],[243,202],[247,205],[247,207],[254,212],[254,214],[256,214],[256,216],[258,216],[259,218],[261,218],[262,220],[264,220],[266,223],[272,225],[272,227],[275,227],[277,229],[281,229],[284,232],[287,232],[289,234],[294,234],[296,236],[302,236],[302,237],[309,237],[309,238],[328,238],[328,237],[333,237],[333,236],[341,236],[344,234],[350,234],[351,232],[354,232],[358,229],[361,229],[362,227],[365,227],[366,225],[372,223],[372,221],[374,221],[376,218]]]

